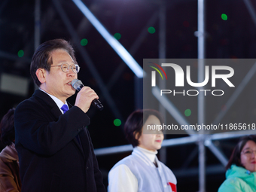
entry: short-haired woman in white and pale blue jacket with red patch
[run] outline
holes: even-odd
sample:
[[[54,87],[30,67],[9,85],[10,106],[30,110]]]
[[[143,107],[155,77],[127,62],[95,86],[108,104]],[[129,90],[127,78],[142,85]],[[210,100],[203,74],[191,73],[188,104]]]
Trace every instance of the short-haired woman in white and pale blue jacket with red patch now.
[[[176,191],[175,175],[156,155],[163,142],[163,133],[156,127],[162,124],[158,111],[144,109],[130,114],[124,132],[133,145],[133,153],[108,173],[108,191]]]

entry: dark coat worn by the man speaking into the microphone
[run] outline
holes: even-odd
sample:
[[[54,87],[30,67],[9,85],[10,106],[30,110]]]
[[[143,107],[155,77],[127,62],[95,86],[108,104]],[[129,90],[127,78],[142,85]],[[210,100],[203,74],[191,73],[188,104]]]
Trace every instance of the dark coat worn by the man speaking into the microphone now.
[[[84,111],[73,106],[62,114],[50,96],[35,90],[17,106],[14,120],[22,191],[105,191]]]

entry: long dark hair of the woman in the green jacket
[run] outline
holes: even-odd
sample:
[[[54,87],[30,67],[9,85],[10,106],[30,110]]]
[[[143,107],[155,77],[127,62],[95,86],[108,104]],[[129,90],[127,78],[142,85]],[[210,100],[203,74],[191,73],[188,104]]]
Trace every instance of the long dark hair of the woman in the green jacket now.
[[[246,145],[248,141],[252,141],[256,143],[256,135],[244,136],[241,139],[239,139],[239,142],[236,145],[236,147],[233,149],[230,160],[227,163],[226,170],[230,169],[230,166],[232,166],[233,164],[235,164],[236,166],[242,166],[241,160],[240,160],[241,152],[242,152],[242,148]]]

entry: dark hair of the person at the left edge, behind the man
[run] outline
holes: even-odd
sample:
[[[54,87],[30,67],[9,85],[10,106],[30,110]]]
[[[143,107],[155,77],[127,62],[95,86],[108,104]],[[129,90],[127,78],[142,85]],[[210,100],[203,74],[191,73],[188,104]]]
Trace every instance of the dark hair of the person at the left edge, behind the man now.
[[[11,145],[15,140],[14,130],[14,108],[9,109],[8,113],[2,117],[0,123],[1,141],[4,145]]]

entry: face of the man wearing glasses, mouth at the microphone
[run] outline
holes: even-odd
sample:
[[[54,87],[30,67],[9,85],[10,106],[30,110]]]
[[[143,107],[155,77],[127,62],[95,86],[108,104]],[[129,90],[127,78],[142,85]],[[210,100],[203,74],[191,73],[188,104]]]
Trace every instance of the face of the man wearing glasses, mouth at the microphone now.
[[[72,66],[74,60],[66,50],[62,49],[53,50],[51,59],[53,60],[53,67],[50,67],[50,72],[44,72],[45,82],[40,87],[42,90],[65,102],[66,99],[75,94],[71,81],[78,78],[78,74],[75,74],[71,67],[69,72],[62,72],[61,67],[58,65],[66,62],[69,66]]]

